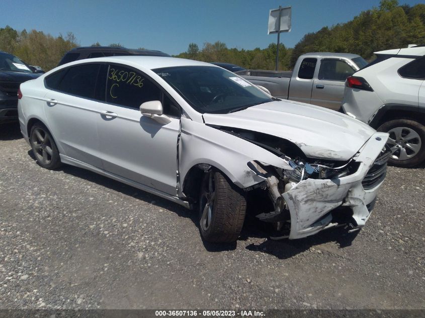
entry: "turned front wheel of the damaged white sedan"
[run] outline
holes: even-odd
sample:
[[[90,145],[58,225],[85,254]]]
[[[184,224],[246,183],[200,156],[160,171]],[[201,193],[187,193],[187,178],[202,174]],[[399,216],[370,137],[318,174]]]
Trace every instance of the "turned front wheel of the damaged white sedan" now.
[[[221,172],[210,170],[202,180],[200,192],[199,230],[202,238],[213,243],[236,241],[245,220],[243,191]]]

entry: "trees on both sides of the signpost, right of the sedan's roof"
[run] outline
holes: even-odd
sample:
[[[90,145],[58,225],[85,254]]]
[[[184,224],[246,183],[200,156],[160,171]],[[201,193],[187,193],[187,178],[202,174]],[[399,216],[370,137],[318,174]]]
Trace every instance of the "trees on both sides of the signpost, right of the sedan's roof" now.
[[[279,47],[279,70],[293,69],[301,54],[308,52],[354,53],[371,61],[373,52],[425,44],[425,5],[399,6],[397,0],[382,0],[378,8],[363,11],[353,20],[323,27],[306,34],[295,47]],[[222,42],[196,43],[177,55],[205,62],[227,62],[250,69],[275,68],[276,44],[266,49],[228,49]]]

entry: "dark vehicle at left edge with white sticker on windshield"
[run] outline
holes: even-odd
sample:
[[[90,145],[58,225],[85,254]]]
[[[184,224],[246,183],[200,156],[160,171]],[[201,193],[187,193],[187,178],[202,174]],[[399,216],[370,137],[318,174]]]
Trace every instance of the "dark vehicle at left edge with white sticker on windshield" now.
[[[19,85],[40,75],[15,55],[0,51],[0,124],[18,120]]]

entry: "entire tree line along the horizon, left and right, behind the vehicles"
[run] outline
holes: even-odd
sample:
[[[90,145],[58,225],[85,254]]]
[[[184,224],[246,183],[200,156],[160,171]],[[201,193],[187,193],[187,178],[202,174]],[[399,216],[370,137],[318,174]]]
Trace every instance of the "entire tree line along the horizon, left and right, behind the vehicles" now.
[[[382,0],[378,8],[363,11],[347,23],[306,34],[294,48],[281,43],[279,69],[292,69],[298,57],[307,52],[355,53],[372,60],[373,52],[407,47],[408,44],[425,44],[425,5],[399,6],[397,0]],[[0,50],[46,71],[55,67],[65,52],[77,46],[71,32],[53,37],[36,30],[19,32],[10,26],[0,28]],[[100,46],[100,43],[92,46]],[[121,47],[121,44],[110,46]],[[206,42],[201,49],[198,44],[190,43],[187,51],[176,57],[271,70],[275,68],[276,43],[253,50],[228,48],[220,41]]]

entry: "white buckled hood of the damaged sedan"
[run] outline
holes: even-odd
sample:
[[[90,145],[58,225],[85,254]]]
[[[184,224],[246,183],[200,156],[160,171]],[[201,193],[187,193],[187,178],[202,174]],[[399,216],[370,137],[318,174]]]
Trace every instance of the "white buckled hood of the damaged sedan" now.
[[[346,161],[375,133],[366,124],[322,107],[272,101],[230,114],[204,114],[207,125],[233,127],[284,138],[310,158]]]

